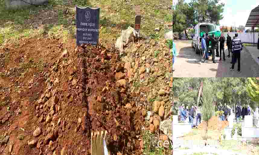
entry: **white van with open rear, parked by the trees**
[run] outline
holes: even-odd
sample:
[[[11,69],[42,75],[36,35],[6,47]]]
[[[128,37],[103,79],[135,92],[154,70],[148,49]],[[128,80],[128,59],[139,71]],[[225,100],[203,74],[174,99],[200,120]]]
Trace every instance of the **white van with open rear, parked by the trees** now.
[[[209,33],[211,31],[216,31],[219,30],[219,26],[215,24],[210,24],[210,23],[198,23],[194,29],[193,29],[193,40],[192,40],[192,48],[195,49],[196,54],[199,53],[200,48],[201,48],[201,38],[200,36],[201,32]],[[210,48],[210,47],[209,47]]]

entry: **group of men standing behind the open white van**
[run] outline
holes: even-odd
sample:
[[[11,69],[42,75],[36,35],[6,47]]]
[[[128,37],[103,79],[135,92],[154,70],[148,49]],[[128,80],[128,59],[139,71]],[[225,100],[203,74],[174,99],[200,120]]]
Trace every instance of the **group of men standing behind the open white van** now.
[[[221,54],[223,53],[223,60],[225,61],[225,36],[222,33],[221,36],[215,37],[213,34],[212,37],[209,37],[208,33],[203,34],[203,38],[201,40],[201,49],[203,51],[203,56],[201,62],[206,62],[206,60],[209,60],[209,42],[211,42],[211,52],[212,52],[212,62],[215,62],[215,55],[216,57],[220,57],[219,61],[221,61],[222,57]],[[238,62],[238,72],[240,73],[240,53],[243,49],[243,43],[241,42],[240,38],[238,38],[238,33],[235,33],[235,37],[231,40],[231,37],[227,36],[227,47],[229,55],[227,57],[230,57],[230,52],[232,53],[232,66],[230,70],[234,70],[235,63]]]

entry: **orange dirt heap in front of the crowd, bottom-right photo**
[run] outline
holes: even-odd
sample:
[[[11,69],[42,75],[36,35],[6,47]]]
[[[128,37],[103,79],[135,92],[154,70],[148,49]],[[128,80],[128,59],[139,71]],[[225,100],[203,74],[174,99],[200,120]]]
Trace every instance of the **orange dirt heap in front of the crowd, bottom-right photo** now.
[[[229,125],[228,121],[220,121],[217,116],[212,116],[208,121],[208,130],[218,130],[221,131]],[[206,127],[205,122],[201,122],[198,125],[198,130],[203,130]]]

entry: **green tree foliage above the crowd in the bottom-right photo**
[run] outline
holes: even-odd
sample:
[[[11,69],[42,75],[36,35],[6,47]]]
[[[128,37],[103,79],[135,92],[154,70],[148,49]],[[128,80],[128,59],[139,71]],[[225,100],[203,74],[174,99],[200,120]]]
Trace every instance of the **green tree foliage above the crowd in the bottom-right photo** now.
[[[254,83],[248,82],[247,78],[205,78],[212,84],[212,98],[222,104],[226,103],[229,106],[241,103],[242,105],[249,104],[252,108],[257,106],[258,101],[258,82],[255,83],[255,78],[252,78]],[[174,98],[179,99],[174,101],[175,106],[185,104],[186,106],[196,105],[198,90],[202,78],[174,78],[173,92]],[[205,87],[205,86],[204,86]],[[249,91],[251,92],[249,94]],[[204,93],[204,90],[203,90]],[[204,102],[204,101],[203,101]],[[202,103],[200,101],[200,103]]]

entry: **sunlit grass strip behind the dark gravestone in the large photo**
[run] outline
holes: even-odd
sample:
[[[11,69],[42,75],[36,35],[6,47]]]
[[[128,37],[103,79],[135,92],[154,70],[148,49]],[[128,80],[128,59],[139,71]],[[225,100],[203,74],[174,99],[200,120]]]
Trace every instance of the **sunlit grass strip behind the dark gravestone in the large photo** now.
[[[22,8],[17,10],[6,10],[5,1],[0,0],[0,46],[5,41],[16,42],[17,39],[22,37],[41,36],[49,31],[54,35],[60,33],[59,37],[67,40],[72,38],[75,34],[75,5],[80,7],[90,6],[93,8],[100,8],[100,24],[102,25],[99,38],[110,40],[112,37],[120,36],[121,30],[127,29],[129,26],[134,25],[135,6],[141,6],[141,14],[144,15],[141,20],[141,33],[146,36],[151,36],[152,39],[158,40],[163,38],[166,28],[161,22],[170,22],[172,12],[166,9],[170,5],[171,0],[163,1],[164,9],[157,9],[160,0],[132,0],[130,3],[125,1],[113,0],[74,0],[73,5],[65,5],[62,0],[50,0],[48,5],[32,6],[30,8]],[[68,15],[63,14],[63,10],[69,10]],[[57,14],[57,20],[44,24],[43,29],[35,29],[35,20],[46,19],[49,16],[44,16],[46,11],[53,11]],[[51,16],[53,17],[53,16]],[[158,21],[157,21],[158,20]],[[38,20],[39,21],[39,20]],[[59,29],[60,26],[62,29]],[[156,27],[161,27],[159,32],[154,32]],[[62,32],[66,31],[66,32]],[[10,42],[9,42],[10,43]]]

